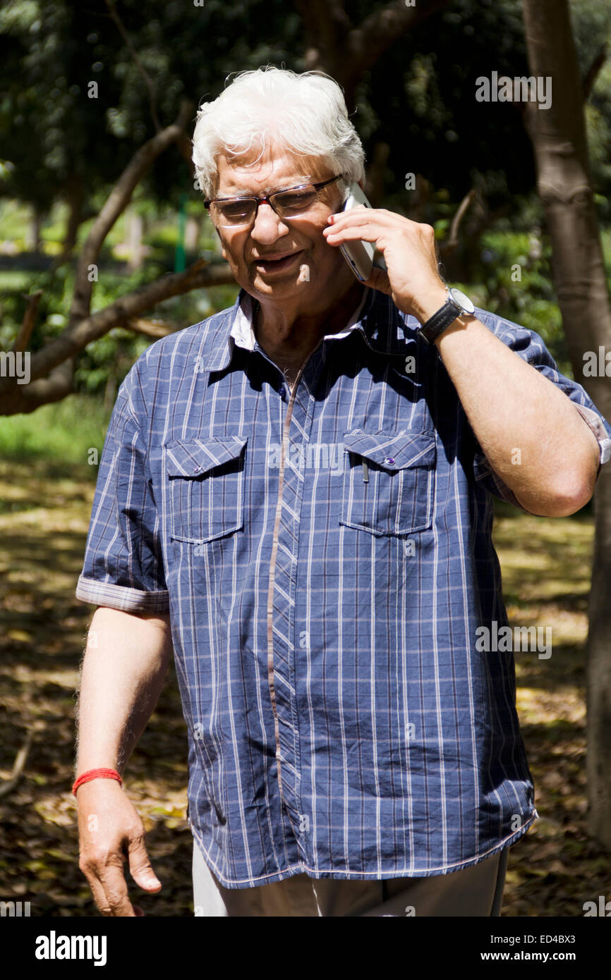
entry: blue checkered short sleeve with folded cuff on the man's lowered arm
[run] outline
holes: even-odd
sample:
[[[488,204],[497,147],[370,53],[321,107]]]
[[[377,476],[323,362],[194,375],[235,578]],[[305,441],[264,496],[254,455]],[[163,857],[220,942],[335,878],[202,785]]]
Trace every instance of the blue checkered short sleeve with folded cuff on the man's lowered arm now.
[[[125,613],[168,613],[160,521],[145,441],[122,384],[100,460],[76,598]]]

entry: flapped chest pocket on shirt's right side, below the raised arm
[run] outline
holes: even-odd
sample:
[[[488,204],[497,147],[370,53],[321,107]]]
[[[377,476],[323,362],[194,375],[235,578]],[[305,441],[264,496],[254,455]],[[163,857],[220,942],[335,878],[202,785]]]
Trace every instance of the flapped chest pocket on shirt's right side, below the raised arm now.
[[[436,447],[431,432],[344,432],[339,522],[378,536],[433,523]]]

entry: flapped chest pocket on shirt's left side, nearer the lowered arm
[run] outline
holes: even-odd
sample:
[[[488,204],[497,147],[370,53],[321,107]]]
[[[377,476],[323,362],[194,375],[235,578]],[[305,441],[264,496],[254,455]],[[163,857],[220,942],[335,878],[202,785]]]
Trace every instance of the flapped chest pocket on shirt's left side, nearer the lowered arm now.
[[[247,439],[179,439],[166,446],[170,536],[205,544],[244,523],[244,447]]]

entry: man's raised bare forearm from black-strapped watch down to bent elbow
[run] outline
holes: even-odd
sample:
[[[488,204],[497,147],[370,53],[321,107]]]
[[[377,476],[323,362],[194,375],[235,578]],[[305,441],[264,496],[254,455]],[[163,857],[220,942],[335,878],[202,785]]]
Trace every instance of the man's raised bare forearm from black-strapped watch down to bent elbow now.
[[[484,455],[533,514],[573,514],[598,469],[595,436],[571,400],[475,317],[435,341]]]

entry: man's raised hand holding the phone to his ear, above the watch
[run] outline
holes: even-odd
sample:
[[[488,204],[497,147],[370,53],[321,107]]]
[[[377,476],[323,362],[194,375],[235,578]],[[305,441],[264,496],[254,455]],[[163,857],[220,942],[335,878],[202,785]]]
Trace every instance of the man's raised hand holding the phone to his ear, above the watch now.
[[[422,322],[433,316],[446,300],[446,288],[438,272],[434,229],[378,208],[352,208],[331,215],[323,230],[330,245],[361,239],[374,242],[386,270],[374,267],[364,285],[378,289],[402,313]]]

